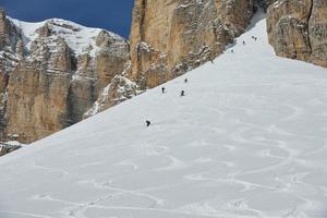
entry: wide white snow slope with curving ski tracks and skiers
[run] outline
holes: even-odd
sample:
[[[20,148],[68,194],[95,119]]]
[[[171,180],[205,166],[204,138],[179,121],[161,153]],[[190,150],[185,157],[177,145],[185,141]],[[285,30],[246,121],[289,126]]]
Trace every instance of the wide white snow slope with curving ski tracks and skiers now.
[[[326,217],[327,71],[265,32],[1,158],[0,217]]]

